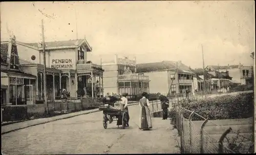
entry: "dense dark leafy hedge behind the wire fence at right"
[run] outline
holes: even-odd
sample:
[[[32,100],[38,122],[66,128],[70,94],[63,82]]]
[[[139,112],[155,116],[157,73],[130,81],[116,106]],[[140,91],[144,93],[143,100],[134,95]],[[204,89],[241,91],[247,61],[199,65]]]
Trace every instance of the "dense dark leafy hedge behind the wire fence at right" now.
[[[218,96],[204,100],[192,101],[182,100],[179,104],[190,111],[209,120],[218,119],[244,119],[254,115],[254,94],[245,93],[236,96]],[[175,120],[176,112],[171,110],[169,117]],[[188,118],[191,113],[184,111],[184,117]],[[193,117],[193,120],[202,120],[200,117]]]

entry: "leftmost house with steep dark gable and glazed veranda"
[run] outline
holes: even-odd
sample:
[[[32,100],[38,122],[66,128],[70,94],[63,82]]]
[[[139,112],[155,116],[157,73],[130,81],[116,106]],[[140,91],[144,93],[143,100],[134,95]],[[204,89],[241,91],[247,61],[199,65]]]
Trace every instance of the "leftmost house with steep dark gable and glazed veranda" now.
[[[20,66],[15,36],[1,42],[1,104],[33,104],[36,97],[36,79]]]

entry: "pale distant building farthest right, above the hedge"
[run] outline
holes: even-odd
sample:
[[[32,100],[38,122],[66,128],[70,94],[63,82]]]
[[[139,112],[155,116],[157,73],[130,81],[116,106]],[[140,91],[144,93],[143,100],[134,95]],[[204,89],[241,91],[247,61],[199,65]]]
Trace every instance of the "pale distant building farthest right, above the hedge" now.
[[[237,82],[248,86],[253,83],[253,67],[243,66],[242,64],[226,66],[209,65],[206,70],[212,74],[216,71],[227,72],[232,77],[230,82]]]

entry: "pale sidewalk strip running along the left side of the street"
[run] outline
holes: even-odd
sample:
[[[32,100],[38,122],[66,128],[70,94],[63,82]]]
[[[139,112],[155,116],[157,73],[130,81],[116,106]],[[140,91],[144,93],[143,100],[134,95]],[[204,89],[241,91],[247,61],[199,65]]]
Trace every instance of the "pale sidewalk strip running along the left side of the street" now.
[[[138,104],[138,102],[130,103],[129,106],[135,105],[135,104]],[[91,109],[91,110],[84,110],[84,111],[80,111],[80,112],[58,115],[58,116],[49,117],[49,118],[40,118],[40,119],[34,119],[34,120],[4,125],[4,126],[2,126],[1,134],[7,134],[8,132],[27,128],[27,127],[34,126],[34,125],[45,124],[45,123],[49,123],[52,121],[67,119],[67,118],[71,118],[71,117],[75,117],[75,116],[79,116],[79,115],[86,115],[86,114],[91,114],[91,113],[100,112],[100,111],[101,110],[96,108],[96,109]]]

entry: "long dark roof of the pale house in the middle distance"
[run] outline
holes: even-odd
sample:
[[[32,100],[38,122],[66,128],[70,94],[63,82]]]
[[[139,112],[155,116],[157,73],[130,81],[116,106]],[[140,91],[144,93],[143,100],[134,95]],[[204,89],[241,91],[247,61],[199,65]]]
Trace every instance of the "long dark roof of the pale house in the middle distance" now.
[[[150,62],[150,63],[139,63],[137,64],[136,73],[145,73],[145,72],[156,72],[156,71],[175,71],[176,61],[161,61],[161,62]],[[189,67],[185,64],[180,63],[178,72],[188,72]]]

